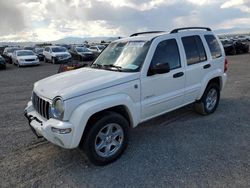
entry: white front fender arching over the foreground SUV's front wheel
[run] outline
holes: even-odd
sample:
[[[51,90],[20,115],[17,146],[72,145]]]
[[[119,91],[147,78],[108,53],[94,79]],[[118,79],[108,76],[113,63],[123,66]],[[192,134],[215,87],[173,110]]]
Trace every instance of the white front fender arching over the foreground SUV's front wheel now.
[[[123,105],[127,108],[131,126],[135,127],[140,120],[140,102],[135,103],[125,94],[109,95],[99,99],[94,99],[78,106],[70,117],[70,122],[74,125],[74,135],[71,148],[79,145],[89,118],[102,110]]]

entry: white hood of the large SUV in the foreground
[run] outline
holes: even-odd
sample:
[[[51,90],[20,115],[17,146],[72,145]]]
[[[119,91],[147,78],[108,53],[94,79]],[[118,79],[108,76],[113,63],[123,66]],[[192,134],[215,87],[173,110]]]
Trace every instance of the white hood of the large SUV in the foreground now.
[[[140,73],[81,68],[45,78],[35,83],[34,91],[45,98],[64,100],[139,79]]]

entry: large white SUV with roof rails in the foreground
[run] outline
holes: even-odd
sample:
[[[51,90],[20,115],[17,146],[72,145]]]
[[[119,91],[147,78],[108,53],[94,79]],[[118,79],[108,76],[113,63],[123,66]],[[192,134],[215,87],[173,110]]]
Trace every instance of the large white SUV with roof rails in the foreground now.
[[[37,136],[80,146],[105,165],[141,122],[190,103],[213,113],[226,70],[223,46],[209,28],[136,33],[112,42],[90,67],[36,82],[25,116]]]

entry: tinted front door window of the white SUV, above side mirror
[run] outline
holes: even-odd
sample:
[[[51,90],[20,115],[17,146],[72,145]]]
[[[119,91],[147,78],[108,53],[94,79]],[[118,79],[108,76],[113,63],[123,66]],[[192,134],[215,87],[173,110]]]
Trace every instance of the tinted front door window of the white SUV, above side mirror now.
[[[159,63],[169,63],[170,70],[181,67],[179,49],[175,39],[165,40],[158,44],[150,66]]]

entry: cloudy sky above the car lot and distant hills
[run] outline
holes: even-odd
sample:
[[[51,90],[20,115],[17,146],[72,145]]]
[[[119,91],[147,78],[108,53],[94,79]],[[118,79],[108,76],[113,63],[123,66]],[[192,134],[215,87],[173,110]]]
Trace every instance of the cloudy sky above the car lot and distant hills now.
[[[250,28],[250,0],[0,0],[0,41]]]

